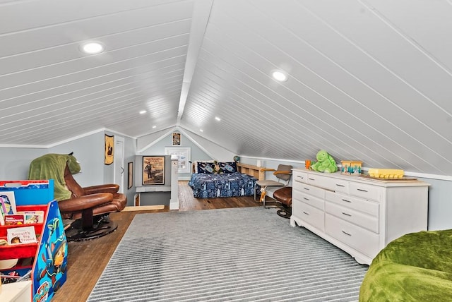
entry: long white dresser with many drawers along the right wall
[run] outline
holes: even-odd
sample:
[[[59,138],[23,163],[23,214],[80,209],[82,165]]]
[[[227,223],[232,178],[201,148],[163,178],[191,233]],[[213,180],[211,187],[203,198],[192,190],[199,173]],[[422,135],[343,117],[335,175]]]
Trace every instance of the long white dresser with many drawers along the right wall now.
[[[427,230],[429,184],[293,169],[290,224],[371,260],[389,242]]]

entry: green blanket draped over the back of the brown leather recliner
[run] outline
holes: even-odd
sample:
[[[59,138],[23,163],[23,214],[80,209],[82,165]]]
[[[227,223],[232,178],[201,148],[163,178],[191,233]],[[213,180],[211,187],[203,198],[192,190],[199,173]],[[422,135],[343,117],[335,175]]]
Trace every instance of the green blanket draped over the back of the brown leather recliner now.
[[[80,172],[81,167],[73,155],[50,153],[33,159],[28,171],[28,179],[53,179],[54,198],[58,201],[71,198],[71,191],[66,188],[64,169],[66,164],[71,174]]]

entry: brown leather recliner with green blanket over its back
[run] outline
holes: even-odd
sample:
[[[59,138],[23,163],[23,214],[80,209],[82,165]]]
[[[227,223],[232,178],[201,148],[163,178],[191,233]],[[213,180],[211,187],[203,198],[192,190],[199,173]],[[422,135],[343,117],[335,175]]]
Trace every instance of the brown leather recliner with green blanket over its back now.
[[[72,153],[49,154],[32,161],[28,176],[28,179],[54,179],[61,217],[71,221],[71,227],[66,229],[68,241],[84,241],[111,233],[117,224],[109,219],[109,213],[121,212],[127,204],[126,195],[118,193],[117,184],[82,188],[72,176],[78,171],[80,166]]]

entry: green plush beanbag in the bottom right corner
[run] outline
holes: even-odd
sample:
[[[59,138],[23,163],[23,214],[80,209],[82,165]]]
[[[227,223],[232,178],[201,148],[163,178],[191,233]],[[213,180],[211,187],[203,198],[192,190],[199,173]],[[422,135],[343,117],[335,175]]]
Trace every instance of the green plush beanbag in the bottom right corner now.
[[[452,301],[452,230],[389,243],[372,261],[359,301]]]

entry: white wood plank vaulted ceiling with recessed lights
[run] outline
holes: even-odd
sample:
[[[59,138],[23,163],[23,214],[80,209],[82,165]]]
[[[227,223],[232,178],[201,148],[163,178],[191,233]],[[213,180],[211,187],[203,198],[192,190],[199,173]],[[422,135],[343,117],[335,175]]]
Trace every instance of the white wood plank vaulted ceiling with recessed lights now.
[[[238,155],[452,175],[451,37],[451,0],[0,0],[0,144],[179,126]]]

